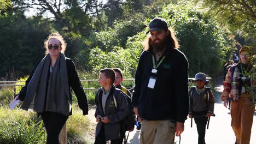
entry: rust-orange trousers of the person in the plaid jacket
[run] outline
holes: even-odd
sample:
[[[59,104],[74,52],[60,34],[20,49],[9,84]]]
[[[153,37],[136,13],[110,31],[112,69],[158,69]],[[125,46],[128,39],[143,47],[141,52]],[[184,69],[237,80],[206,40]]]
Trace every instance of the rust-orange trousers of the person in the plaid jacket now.
[[[249,144],[255,105],[249,99],[241,97],[231,102],[231,126],[238,144]]]

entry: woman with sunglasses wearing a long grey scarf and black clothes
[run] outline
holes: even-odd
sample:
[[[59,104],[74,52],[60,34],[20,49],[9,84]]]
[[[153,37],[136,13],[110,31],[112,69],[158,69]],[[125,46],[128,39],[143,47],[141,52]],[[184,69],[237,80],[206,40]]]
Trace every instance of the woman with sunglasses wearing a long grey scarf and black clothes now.
[[[46,56],[17,95],[23,101],[21,109],[33,109],[42,117],[46,143],[59,143],[59,134],[72,115],[72,91],[77,96],[83,115],[88,115],[88,103],[72,59],[65,57],[66,43],[60,34],[50,34],[45,40]]]

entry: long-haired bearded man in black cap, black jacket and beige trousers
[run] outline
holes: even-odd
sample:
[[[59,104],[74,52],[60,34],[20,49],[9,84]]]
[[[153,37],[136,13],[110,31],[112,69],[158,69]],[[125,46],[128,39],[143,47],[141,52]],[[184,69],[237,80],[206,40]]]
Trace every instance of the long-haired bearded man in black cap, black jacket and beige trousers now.
[[[147,33],[132,97],[142,121],[140,144],[174,143],[188,116],[188,60],[164,19],[150,21]]]

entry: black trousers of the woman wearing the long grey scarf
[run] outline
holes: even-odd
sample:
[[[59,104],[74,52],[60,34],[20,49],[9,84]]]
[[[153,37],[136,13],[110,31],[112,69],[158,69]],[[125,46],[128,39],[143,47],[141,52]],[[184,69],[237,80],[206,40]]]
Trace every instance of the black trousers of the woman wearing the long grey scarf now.
[[[66,123],[68,116],[61,113],[45,111],[40,113],[47,133],[47,144],[57,144],[59,142],[59,134]]]

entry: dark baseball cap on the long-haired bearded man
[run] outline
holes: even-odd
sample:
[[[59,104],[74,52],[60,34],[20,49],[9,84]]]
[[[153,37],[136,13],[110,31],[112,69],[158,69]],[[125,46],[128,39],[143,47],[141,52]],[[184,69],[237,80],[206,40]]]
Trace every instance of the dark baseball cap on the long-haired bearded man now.
[[[152,21],[149,22],[149,30],[147,33],[149,33],[150,31],[162,31],[162,29],[167,30],[168,29],[168,25],[167,22],[159,17],[155,17],[155,19],[153,19]]]

